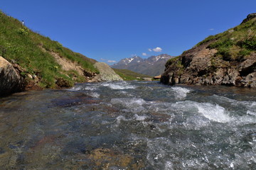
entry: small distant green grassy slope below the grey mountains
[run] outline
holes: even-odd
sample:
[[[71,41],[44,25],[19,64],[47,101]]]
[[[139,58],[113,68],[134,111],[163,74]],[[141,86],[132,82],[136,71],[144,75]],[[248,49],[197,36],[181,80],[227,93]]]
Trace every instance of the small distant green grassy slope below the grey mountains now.
[[[140,77],[141,79],[145,78],[145,77],[149,77],[149,76],[146,76],[144,74],[139,74],[137,72],[132,72],[128,69],[114,69],[114,72],[116,72],[120,77],[122,77],[122,79],[127,80],[127,81],[135,80],[135,79],[137,79],[137,77]]]

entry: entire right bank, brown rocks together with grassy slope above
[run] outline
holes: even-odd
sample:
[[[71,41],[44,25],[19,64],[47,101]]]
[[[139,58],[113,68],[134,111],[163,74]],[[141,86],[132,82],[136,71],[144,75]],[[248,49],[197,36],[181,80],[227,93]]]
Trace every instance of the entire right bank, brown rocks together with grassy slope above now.
[[[256,87],[256,13],[166,62],[164,84]]]

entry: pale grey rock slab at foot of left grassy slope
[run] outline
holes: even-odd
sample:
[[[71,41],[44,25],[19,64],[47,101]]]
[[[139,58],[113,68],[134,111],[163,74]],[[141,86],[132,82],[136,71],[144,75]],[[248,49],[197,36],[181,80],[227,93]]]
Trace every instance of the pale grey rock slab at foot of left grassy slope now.
[[[99,70],[100,74],[97,74],[90,82],[97,81],[122,81],[123,79],[119,77],[118,74],[110,68],[105,62],[96,62],[94,66]]]

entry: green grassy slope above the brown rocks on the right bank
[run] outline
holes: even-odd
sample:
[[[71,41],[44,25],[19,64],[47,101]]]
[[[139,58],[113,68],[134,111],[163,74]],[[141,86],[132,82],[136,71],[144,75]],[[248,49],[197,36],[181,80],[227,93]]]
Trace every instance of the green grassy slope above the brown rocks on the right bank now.
[[[256,18],[224,33],[211,35],[198,45],[210,40],[213,42],[208,45],[208,48],[218,50],[216,57],[222,57],[225,61],[242,62],[256,50]]]

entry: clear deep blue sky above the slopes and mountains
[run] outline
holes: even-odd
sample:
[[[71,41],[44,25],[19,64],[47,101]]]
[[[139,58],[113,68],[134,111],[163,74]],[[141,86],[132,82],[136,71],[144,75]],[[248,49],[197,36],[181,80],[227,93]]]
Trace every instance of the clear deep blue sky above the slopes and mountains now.
[[[256,13],[255,0],[1,0],[4,13],[75,52],[113,64],[181,55]]]

